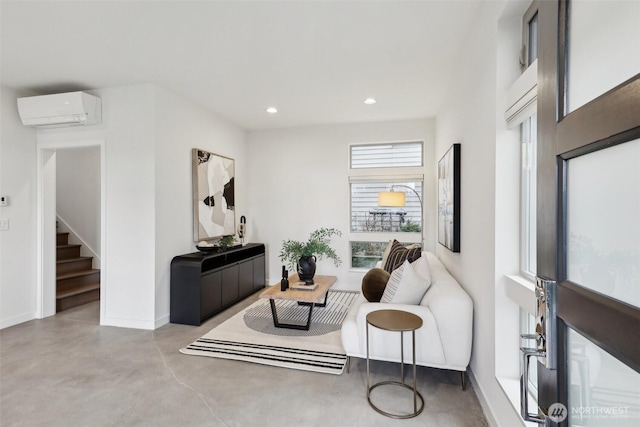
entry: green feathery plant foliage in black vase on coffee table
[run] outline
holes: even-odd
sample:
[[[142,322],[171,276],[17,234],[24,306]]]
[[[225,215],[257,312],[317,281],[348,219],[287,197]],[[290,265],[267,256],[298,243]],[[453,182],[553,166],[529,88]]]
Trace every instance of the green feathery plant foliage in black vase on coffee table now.
[[[342,236],[342,233],[335,228],[319,228],[311,233],[306,242],[284,240],[280,249],[280,261],[287,264],[291,271],[295,271],[300,257],[315,255],[318,260],[324,257],[332,259],[338,267],[342,260],[329,245],[332,236]]]

